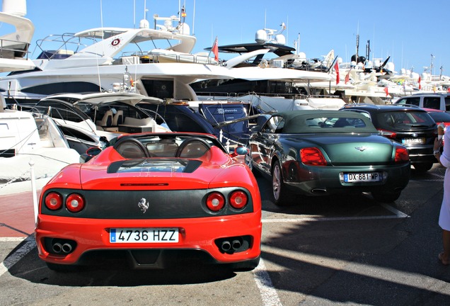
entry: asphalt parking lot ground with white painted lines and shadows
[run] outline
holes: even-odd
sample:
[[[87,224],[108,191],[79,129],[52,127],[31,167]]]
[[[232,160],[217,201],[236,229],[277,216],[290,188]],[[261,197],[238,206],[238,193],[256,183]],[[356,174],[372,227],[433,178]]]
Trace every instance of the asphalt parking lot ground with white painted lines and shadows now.
[[[443,176],[437,165],[413,170],[389,205],[361,195],[285,207],[258,177],[262,261],[250,272],[186,260],[162,271],[102,262],[55,273],[33,234],[0,237],[0,305],[450,305],[450,267],[437,260]]]

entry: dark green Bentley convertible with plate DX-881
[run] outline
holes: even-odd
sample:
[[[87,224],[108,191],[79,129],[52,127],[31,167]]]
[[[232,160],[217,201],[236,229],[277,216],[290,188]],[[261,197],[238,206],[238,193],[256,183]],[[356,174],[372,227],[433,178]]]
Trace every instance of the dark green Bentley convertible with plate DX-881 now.
[[[408,185],[408,150],[356,112],[289,111],[252,128],[246,164],[272,179],[275,204],[292,194],[369,192],[392,202]]]

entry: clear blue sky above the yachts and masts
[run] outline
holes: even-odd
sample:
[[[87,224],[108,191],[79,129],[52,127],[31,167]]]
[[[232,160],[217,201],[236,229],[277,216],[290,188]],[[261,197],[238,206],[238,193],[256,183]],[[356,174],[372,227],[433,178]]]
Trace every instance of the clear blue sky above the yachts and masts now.
[[[35,24],[37,39],[50,34],[76,33],[102,26],[129,27],[144,18],[153,24],[153,15],[178,14],[178,0],[28,0],[25,16]],[[345,62],[356,52],[365,55],[370,40],[371,58],[389,55],[400,68],[422,73],[433,55],[433,74],[450,75],[450,2],[428,1],[304,1],[304,0],[185,0],[186,22],[197,37],[194,52],[219,45],[254,42],[262,28],[278,30],[287,25],[287,45],[300,37],[299,50],[306,57],[322,57],[331,49]],[[194,6],[195,4],[195,6]],[[135,12],[134,12],[135,6]],[[36,57],[37,55],[34,55]]]

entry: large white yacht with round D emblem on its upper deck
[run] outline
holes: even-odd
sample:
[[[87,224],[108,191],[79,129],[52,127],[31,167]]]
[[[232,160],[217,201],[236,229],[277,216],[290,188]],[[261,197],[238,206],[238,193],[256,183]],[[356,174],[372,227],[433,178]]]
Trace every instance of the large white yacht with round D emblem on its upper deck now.
[[[158,23],[163,22],[163,25]],[[50,94],[114,91],[126,86],[144,96],[195,101],[189,84],[231,77],[204,52],[192,54],[196,38],[180,18],[154,16],[154,27],[93,28],[37,40],[34,69],[0,79],[8,104],[35,103]],[[124,74],[130,79],[123,79]]]

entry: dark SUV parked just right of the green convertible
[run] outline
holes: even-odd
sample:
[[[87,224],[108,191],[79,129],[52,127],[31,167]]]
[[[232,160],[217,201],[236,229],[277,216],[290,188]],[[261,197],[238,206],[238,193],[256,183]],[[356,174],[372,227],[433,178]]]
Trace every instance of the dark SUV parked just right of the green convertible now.
[[[437,125],[422,108],[394,105],[352,104],[342,111],[357,111],[367,115],[380,134],[408,148],[411,164],[416,171],[428,171],[434,158],[434,138]]]

